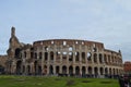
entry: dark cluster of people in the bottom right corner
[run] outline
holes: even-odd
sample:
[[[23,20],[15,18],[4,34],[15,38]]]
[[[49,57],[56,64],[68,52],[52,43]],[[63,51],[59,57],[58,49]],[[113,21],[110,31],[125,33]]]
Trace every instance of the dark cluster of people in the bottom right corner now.
[[[131,87],[130,76],[124,75],[119,77],[120,87]]]

